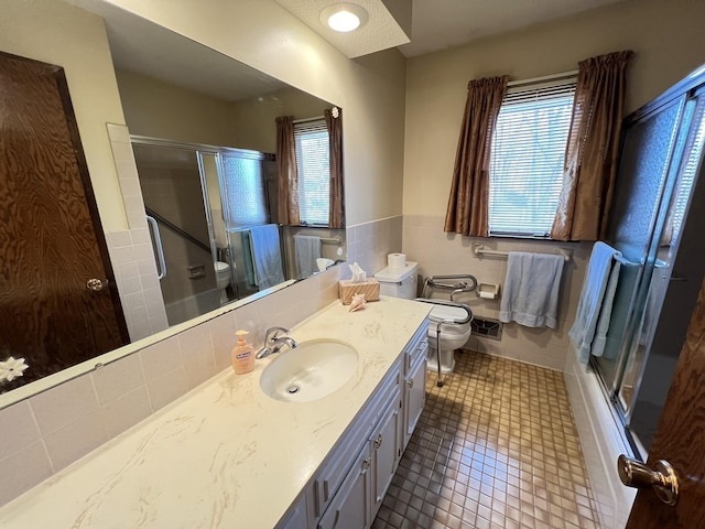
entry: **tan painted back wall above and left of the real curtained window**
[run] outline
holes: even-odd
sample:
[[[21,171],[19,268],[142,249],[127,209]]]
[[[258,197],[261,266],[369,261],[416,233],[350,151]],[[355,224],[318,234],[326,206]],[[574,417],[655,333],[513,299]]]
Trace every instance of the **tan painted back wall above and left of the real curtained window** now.
[[[642,0],[409,61],[404,215],[445,215],[460,118],[473,78],[530,78],[631,48],[628,111],[705,63],[705,2]]]

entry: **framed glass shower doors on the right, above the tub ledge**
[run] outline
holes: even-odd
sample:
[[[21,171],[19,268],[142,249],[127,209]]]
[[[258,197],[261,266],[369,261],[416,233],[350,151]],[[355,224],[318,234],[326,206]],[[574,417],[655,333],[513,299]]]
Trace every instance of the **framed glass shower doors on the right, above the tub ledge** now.
[[[607,347],[593,357],[644,461],[705,272],[704,79],[676,86],[625,122],[607,242],[622,266]]]

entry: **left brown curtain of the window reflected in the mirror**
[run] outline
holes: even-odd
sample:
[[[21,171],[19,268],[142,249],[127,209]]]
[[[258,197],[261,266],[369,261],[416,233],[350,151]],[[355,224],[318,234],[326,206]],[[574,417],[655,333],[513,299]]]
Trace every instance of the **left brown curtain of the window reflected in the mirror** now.
[[[299,217],[299,173],[293,116],[276,118],[276,171],[279,222],[296,226],[301,224],[301,218]]]

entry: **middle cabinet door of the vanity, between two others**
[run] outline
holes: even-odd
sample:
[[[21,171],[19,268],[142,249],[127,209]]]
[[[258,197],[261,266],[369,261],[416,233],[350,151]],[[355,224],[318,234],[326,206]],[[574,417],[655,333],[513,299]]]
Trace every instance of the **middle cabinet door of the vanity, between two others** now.
[[[401,458],[401,396],[387,408],[370,438],[372,450],[372,517],[382,506],[382,499],[394,477]]]

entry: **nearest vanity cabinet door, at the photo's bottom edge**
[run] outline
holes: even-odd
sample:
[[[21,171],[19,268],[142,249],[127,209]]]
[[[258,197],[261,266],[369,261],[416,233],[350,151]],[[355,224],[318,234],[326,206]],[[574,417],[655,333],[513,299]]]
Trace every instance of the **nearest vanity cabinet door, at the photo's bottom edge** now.
[[[318,520],[318,529],[367,529],[371,526],[371,465],[370,444],[365,443],[352,468]]]

